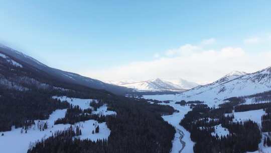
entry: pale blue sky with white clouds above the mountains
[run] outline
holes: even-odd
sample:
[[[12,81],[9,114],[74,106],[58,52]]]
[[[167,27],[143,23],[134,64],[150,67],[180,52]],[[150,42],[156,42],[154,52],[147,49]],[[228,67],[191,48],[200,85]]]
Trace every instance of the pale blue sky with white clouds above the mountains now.
[[[271,1],[2,1],[0,42],[99,80],[210,83],[271,66]]]

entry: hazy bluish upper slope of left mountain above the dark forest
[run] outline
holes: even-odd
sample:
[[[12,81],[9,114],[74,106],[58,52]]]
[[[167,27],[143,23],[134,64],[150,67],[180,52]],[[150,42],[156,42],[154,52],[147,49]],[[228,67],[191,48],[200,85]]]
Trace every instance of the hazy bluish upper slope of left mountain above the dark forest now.
[[[125,87],[119,87],[115,85],[110,85],[103,83],[101,81],[83,77],[79,74],[63,71],[56,68],[51,68],[38,60],[27,56],[19,51],[16,51],[12,48],[0,45],[0,53],[3,56],[8,56],[9,58],[13,58],[14,61],[17,63],[20,63],[20,65],[29,65],[30,67],[34,67],[38,70],[41,70],[48,75],[50,75],[55,80],[66,82],[70,84],[76,84],[76,85],[82,85],[94,89],[103,89],[107,90],[109,92],[112,92],[114,94],[126,94],[129,92],[132,92],[131,89],[125,88]]]

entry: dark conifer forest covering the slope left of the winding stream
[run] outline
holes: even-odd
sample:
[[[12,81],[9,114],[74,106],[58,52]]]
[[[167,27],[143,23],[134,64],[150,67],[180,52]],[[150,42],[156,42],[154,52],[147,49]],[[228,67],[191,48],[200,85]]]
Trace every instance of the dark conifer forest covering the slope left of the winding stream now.
[[[46,147],[52,147],[52,145],[57,147],[56,152],[76,152],[74,150],[66,150],[64,146],[68,142],[71,143],[68,144],[71,145],[70,148],[75,147],[75,150],[79,149],[81,150],[80,152],[101,152],[98,149],[101,142],[103,142],[102,148],[106,152],[169,152],[172,147],[171,140],[174,137],[175,129],[161,117],[163,114],[172,114],[174,112],[174,109],[170,106],[151,105],[146,100],[115,95],[108,96],[107,94],[104,94],[104,97],[100,95],[88,97],[85,91],[17,91],[2,88],[0,92],[2,95],[0,99],[3,100],[0,104],[0,109],[3,109],[2,112],[6,112],[1,113],[0,116],[1,131],[11,130],[12,125],[23,127],[25,124],[28,124],[29,126],[29,124],[33,123],[28,122],[29,120],[48,119],[52,111],[64,108],[70,110],[65,118],[71,120],[65,121],[65,118],[63,120],[60,119],[56,121],[56,124],[58,124],[57,122],[75,123],[77,121],[96,119],[100,122],[105,121],[111,131],[108,140],[97,142],[79,139],[68,141],[70,137],[62,137],[62,140],[67,139],[67,141],[55,143],[59,137],[53,136],[46,140],[48,146],[45,145],[39,150],[39,145],[37,144],[29,152],[43,152],[43,150],[47,150],[45,149]],[[90,113],[90,110],[80,110],[77,106],[72,106],[67,102],[52,99],[53,95],[89,99],[99,98],[100,101],[106,102],[108,109],[115,111],[117,115],[106,117],[89,115],[84,118],[78,118],[78,114],[81,114],[81,112]],[[72,120],[74,118],[75,120]],[[95,148],[97,149],[95,150]]]

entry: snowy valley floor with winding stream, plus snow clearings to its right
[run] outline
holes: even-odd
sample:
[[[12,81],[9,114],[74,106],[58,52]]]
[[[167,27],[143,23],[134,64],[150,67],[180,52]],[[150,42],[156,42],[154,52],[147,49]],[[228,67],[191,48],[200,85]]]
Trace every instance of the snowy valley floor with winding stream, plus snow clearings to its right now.
[[[171,125],[173,125],[176,128],[175,138],[172,141],[173,147],[171,153],[175,152],[193,152],[193,146],[194,142],[190,138],[190,133],[184,129],[181,125],[179,125],[180,121],[184,118],[184,115],[190,111],[189,106],[181,106],[179,104],[175,104],[175,102],[180,101],[180,97],[176,95],[145,95],[143,96],[145,99],[153,99],[153,100],[159,100],[159,101],[167,101],[170,100],[170,103],[161,103],[161,105],[170,105],[174,109],[178,110],[179,112],[174,113],[172,115],[162,116],[163,119],[167,122],[169,122]],[[199,99],[197,99],[199,100]],[[247,102],[248,103],[248,102]],[[208,103],[207,103],[208,104]],[[265,114],[263,109],[259,110],[252,110],[252,111],[245,111],[245,112],[233,112],[231,114],[225,114],[226,115],[232,115],[234,114],[234,122],[237,121],[246,121],[246,120],[252,120],[256,122],[259,127],[261,127],[261,116]],[[217,133],[218,135],[226,135],[228,132],[227,129],[224,129],[220,125],[217,125],[214,135]],[[253,153],[271,153],[271,147],[265,147],[263,146],[263,138],[267,135],[267,133],[262,133],[262,140],[259,143],[259,150],[254,151]]]

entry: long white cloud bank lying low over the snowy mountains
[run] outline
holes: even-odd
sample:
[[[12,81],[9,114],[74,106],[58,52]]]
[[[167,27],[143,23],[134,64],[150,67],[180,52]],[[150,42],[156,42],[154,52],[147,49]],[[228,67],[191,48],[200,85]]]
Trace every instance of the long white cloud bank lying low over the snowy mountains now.
[[[175,56],[131,62],[107,70],[89,71],[85,75],[99,80],[149,80],[159,77],[203,83],[213,82],[232,70],[254,72],[271,65],[271,52],[251,54],[235,47],[204,50],[188,44],[168,50],[167,55]]]

